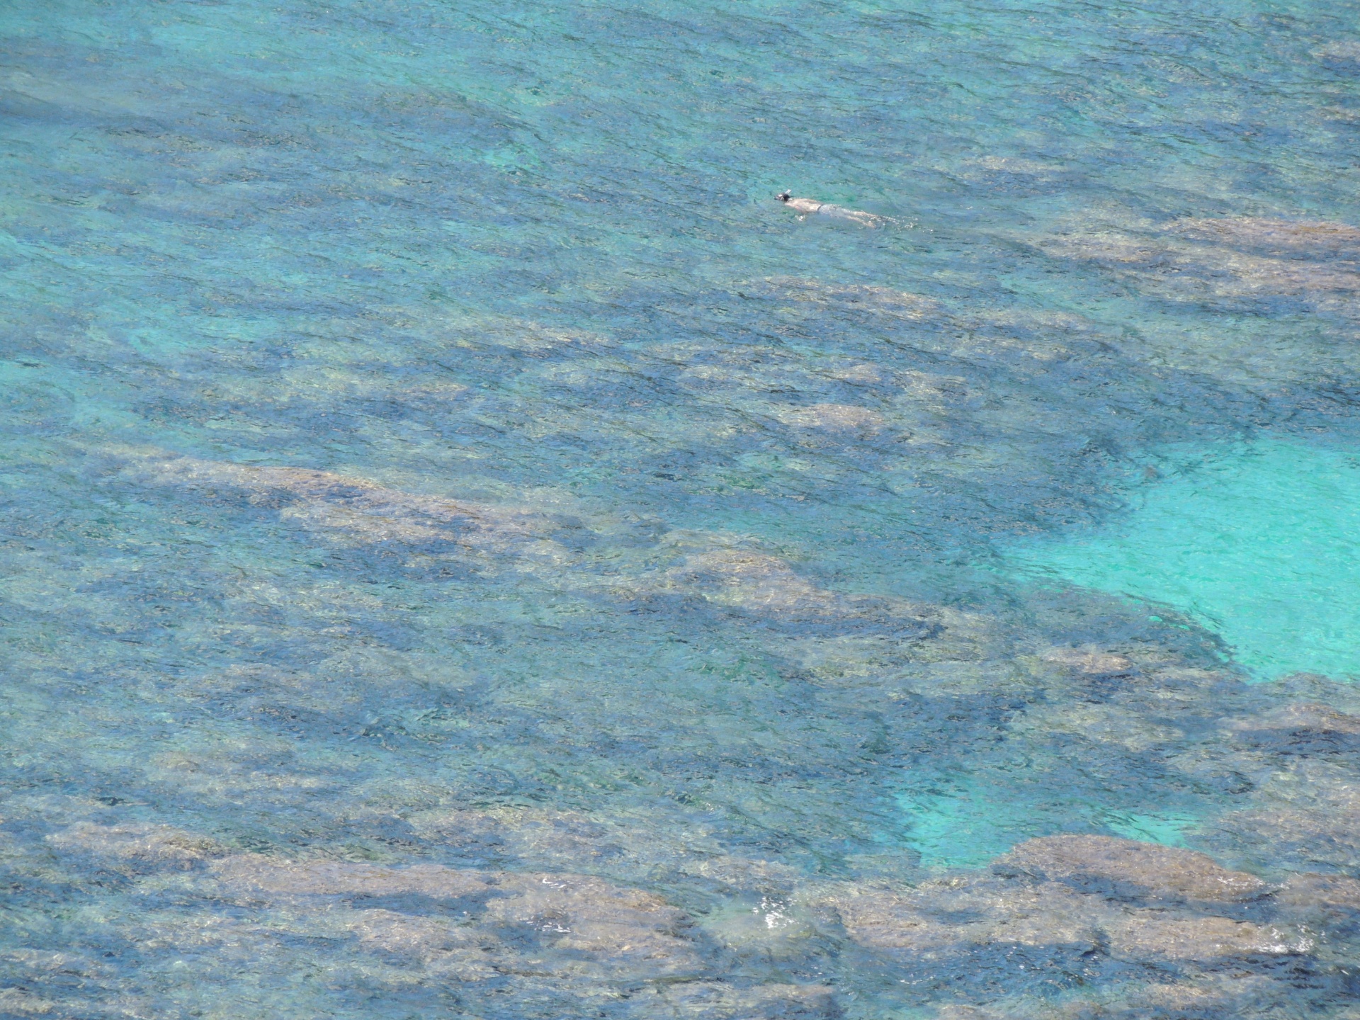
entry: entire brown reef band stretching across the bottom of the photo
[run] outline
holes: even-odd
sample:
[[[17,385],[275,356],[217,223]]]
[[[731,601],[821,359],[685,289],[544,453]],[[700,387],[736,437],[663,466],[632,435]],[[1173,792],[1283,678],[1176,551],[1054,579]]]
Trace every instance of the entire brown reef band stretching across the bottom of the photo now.
[[[579,1008],[641,996],[643,1016],[654,1009],[699,1020],[839,1016],[838,997],[826,985],[721,979],[724,952],[796,963],[835,937],[904,975],[1049,960],[1115,968],[1115,976],[1121,967],[1155,967],[1167,978],[1122,993],[1107,985],[1066,1005],[1050,1004],[1058,1012],[1044,1015],[1066,1015],[1070,1006],[1076,1017],[1099,1002],[1111,1016],[1136,1012],[1140,1002],[1216,1009],[1239,1001],[1234,990],[1246,994],[1248,986],[1257,1001],[1270,1001],[1287,991],[1270,976],[1273,962],[1314,955],[1319,933],[1344,930],[1360,917],[1360,883],[1348,877],[1297,874],[1272,887],[1202,853],[1093,835],[1031,839],[990,869],[915,887],[826,884],[760,862],[714,860],[692,870],[736,868],[738,881],[793,892],[764,896],[759,906],[733,899],[707,918],[657,892],[570,872],[287,861],[128,824],[82,824],[52,842],[63,851],[181,874],[181,903],[218,904],[201,922],[182,908],[137,922],[180,952],[211,948],[235,959],[273,952],[271,940],[284,936],[325,938],[348,947],[352,963],[345,966],[362,966],[370,979],[452,981],[530,997],[552,987]],[[155,850],[163,846],[186,849],[166,855]],[[223,903],[235,919],[220,914]],[[1239,975],[1232,989],[1221,985],[1224,967]],[[1021,996],[951,1006],[940,1016],[990,1020],[1031,1016],[1034,1008]]]

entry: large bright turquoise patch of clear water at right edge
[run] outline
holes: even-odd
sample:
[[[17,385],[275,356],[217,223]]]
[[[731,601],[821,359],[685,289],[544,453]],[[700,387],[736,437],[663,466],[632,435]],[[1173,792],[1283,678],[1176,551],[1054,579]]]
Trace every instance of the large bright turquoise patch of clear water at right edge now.
[[[1185,613],[1258,680],[1360,676],[1360,460],[1278,439],[1172,460],[1103,528],[1008,555]]]

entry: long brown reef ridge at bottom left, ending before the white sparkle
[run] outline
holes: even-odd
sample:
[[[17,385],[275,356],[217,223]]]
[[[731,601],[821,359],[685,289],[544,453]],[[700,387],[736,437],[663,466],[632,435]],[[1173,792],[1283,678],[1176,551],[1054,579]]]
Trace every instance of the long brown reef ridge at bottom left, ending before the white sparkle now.
[[[128,826],[82,826],[63,849],[144,860],[186,834]],[[190,857],[160,853],[175,866]],[[711,963],[690,934],[692,921],[661,896],[593,876],[404,866],[333,860],[282,861],[256,854],[192,854],[204,896],[235,903],[298,934],[348,936],[431,975],[488,981],[536,975],[583,983],[694,979]],[[194,929],[194,938],[203,930]],[[178,936],[170,936],[178,937]]]

